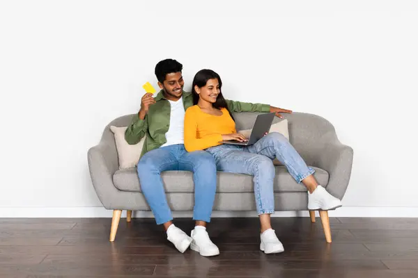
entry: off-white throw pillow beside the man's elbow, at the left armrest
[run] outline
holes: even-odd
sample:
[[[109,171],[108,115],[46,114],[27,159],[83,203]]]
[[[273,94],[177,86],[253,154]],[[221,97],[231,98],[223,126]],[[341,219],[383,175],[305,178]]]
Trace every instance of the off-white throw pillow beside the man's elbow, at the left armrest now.
[[[126,129],[127,126],[110,126],[111,132],[114,133],[116,149],[118,151],[119,170],[132,168],[138,165],[146,138],[146,136],[144,136],[137,144],[129,145],[125,140]]]

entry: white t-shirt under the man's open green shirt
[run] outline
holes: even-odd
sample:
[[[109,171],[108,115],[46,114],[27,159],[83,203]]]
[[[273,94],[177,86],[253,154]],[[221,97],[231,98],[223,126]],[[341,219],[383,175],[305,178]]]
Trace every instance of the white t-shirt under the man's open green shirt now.
[[[178,101],[169,100],[171,105],[170,126],[166,133],[167,142],[161,147],[184,144],[185,143],[185,106],[183,105],[183,97]]]

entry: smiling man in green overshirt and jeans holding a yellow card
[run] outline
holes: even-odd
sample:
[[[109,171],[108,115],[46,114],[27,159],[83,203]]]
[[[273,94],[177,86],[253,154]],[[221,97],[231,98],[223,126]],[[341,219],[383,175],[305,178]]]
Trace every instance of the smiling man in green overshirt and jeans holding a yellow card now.
[[[183,65],[173,59],[162,60],[155,66],[160,92],[154,98],[145,94],[141,109],[127,127],[125,140],[133,145],[146,136],[144,150],[137,172],[141,190],[153,211],[157,224],[163,224],[167,239],[180,252],[191,245],[202,256],[216,256],[218,247],[212,243],[206,231],[215,200],[217,176],[212,154],[205,151],[187,152],[184,147],[185,110],[193,105],[192,94],[183,91]],[[249,104],[227,101],[234,112],[279,112],[291,113],[266,104]],[[173,224],[167,204],[161,172],[183,170],[193,172],[194,214],[196,221],[191,236]]]

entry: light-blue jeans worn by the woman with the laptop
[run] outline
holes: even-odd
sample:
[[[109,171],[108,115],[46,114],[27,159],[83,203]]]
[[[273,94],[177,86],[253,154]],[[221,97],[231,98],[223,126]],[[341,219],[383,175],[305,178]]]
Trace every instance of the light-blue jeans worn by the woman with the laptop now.
[[[272,132],[251,146],[220,145],[206,149],[215,157],[217,170],[254,176],[254,196],[258,215],[274,213],[274,176],[272,159],[285,165],[300,183],[314,170],[308,167],[295,148],[281,133]]]

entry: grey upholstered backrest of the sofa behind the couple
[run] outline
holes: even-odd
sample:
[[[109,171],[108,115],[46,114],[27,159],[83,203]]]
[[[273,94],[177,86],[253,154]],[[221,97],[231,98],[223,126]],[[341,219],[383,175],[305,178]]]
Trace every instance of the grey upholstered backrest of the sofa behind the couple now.
[[[233,113],[237,130],[251,129],[258,114],[260,113]],[[324,147],[327,142],[334,142],[336,139],[334,126],[323,117],[314,114],[293,112],[282,115],[288,120],[289,141],[307,164],[315,165],[313,151]],[[114,135],[109,127],[111,125],[127,126],[132,117],[133,114],[124,115],[110,122],[104,129],[102,140],[114,147]],[[273,124],[279,121],[281,119],[275,117]]]

